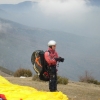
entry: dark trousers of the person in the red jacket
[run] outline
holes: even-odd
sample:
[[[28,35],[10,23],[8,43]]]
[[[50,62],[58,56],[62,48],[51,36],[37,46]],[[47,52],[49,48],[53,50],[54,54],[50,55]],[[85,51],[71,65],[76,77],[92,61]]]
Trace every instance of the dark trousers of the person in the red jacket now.
[[[50,66],[49,67],[49,90],[51,92],[57,90],[57,72],[56,72],[56,66]]]

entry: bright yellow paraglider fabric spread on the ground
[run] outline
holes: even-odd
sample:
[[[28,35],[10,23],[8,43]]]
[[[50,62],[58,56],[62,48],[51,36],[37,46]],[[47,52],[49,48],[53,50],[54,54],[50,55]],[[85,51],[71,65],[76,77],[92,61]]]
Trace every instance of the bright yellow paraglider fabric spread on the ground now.
[[[14,85],[0,76],[0,94],[7,100],[68,100],[62,92],[37,91],[28,86]]]

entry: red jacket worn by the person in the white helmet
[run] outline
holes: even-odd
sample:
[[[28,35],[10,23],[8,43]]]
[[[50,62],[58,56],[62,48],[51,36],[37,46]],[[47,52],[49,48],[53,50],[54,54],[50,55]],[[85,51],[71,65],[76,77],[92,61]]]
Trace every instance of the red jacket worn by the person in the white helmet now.
[[[47,52],[44,54],[45,60],[49,64],[49,66],[56,65],[57,62],[54,58],[58,58],[58,53],[55,50],[49,48]]]

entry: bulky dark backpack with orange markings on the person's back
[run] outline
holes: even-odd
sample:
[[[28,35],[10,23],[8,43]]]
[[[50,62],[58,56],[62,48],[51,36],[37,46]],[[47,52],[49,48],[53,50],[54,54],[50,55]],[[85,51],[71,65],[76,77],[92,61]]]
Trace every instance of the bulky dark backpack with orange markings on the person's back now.
[[[49,81],[48,64],[44,58],[44,53],[43,50],[34,51],[31,56],[31,62],[40,80]]]

